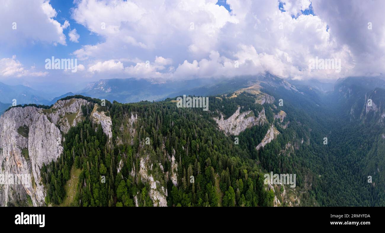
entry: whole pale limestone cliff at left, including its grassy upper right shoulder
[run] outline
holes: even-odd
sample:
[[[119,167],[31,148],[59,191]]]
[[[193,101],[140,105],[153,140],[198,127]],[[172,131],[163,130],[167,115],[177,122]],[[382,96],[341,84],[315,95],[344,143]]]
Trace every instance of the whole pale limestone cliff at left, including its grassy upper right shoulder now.
[[[29,174],[24,184],[0,185],[0,206],[44,205],[45,190],[40,184],[43,163],[57,160],[63,152],[62,135],[84,119],[84,99],[58,101],[50,109],[14,107],[0,117],[0,167],[5,174]]]

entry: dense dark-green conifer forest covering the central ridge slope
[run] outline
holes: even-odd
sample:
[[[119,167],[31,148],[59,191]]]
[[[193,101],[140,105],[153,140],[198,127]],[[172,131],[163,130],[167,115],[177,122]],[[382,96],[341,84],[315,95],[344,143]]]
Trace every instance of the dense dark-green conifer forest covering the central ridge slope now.
[[[90,112],[85,109],[83,107],[84,116],[88,116]],[[130,137],[119,128],[132,112],[138,114],[137,136],[132,145],[118,145],[117,137]],[[266,190],[263,173],[247,148],[235,146],[233,139],[218,131],[212,118],[201,115],[201,109],[179,109],[167,101],[114,102],[109,114],[113,122],[112,142],[108,142],[100,125],[92,125],[86,117],[65,135],[60,159],[41,169],[47,204],[62,203],[64,184],[74,165],[82,172],[72,205],[134,206],[134,197],[137,197],[139,206],[152,206],[149,184],[130,175],[132,166],[139,170],[140,158],[149,154],[151,163],[160,162],[167,172],[171,162],[166,155],[174,154],[178,186],[162,177],[159,179],[167,187],[169,206],[272,205],[273,192]],[[144,144],[146,137],[151,139],[150,145]],[[117,173],[122,159],[124,165]],[[154,175],[158,174],[154,172]],[[101,176],[105,177],[105,183],[100,182]]]

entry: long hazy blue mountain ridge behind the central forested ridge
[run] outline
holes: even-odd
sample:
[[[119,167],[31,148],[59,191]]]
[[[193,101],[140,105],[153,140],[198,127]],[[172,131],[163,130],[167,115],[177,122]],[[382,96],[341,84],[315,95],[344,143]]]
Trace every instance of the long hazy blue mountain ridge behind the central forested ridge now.
[[[108,99],[118,102],[137,102],[141,100],[158,101],[167,97],[179,95],[208,95],[235,91],[247,83],[246,78],[226,79],[193,79],[151,83],[145,79],[101,79],[89,83],[83,90],[77,92],[84,96]]]

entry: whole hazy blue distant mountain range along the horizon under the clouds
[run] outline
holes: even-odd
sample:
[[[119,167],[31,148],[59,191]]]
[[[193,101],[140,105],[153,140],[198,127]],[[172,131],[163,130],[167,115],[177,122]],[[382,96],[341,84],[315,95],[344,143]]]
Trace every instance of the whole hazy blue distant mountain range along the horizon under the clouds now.
[[[100,79],[99,81],[89,83],[84,89],[69,92],[55,97],[42,90],[34,90],[23,85],[7,85],[0,83],[0,102],[12,103],[13,99],[17,104],[54,104],[62,97],[80,94],[99,99],[108,99],[109,101],[118,101],[122,103],[138,102],[142,100],[160,101],[168,97],[178,95],[199,95],[208,96],[215,94],[228,93],[241,89],[253,79],[251,76],[239,76],[229,79],[192,79],[192,80],[167,80],[163,82],[154,82],[147,79]],[[298,83],[293,81],[293,84]],[[300,82],[300,85],[306,85],[310,82]],[[331,83],[311,82],[313,87],[321,91],[330,90]]]

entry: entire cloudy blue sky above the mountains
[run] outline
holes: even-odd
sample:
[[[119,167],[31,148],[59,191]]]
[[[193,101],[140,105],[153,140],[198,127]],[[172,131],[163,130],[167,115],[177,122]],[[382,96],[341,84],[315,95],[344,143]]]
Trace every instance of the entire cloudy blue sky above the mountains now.
[[[0,82],[64,92],[109,78],[378,76],[383,10],[374,0],[3,0]],[[52,56],[77,59],[76,72],[47,69]]]

